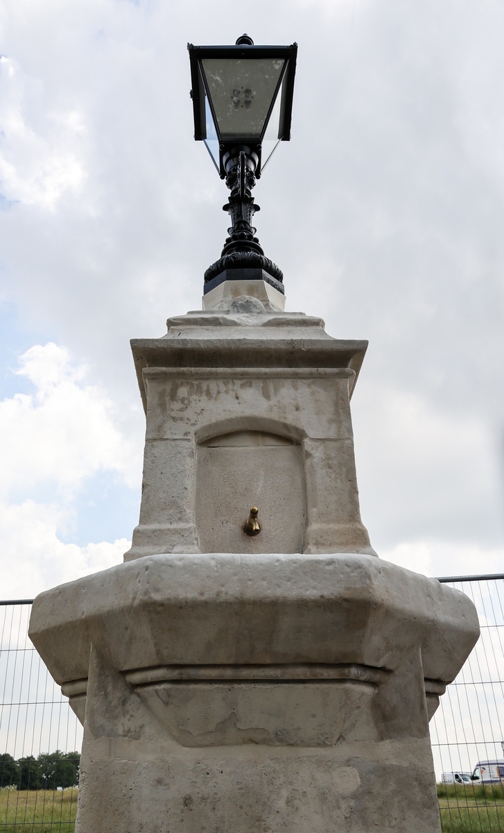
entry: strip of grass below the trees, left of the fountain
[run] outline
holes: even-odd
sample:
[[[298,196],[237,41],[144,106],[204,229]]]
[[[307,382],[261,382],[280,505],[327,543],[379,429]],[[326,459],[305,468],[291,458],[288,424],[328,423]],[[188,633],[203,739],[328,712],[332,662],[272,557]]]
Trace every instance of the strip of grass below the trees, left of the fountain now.
[[[0,790],[0,833],[73,833],[77,787]]]

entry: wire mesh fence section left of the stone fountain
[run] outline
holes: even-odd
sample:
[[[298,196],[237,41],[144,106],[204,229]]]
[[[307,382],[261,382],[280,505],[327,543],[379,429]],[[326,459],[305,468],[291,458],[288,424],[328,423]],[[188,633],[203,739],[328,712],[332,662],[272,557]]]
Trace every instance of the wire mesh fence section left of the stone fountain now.
[[[82,726],[28,638],[31,610],[0,603],[0,833],[73,833]]]

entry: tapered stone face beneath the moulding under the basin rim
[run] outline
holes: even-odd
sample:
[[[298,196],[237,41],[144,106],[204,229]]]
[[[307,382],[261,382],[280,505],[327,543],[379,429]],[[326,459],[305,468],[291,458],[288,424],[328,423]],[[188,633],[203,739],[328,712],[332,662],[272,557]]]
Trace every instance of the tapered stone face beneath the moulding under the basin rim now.
[[[170,681],[136,691],[180,746],[327,747],[343,736],[379,738],[368,721],[371,683]]]

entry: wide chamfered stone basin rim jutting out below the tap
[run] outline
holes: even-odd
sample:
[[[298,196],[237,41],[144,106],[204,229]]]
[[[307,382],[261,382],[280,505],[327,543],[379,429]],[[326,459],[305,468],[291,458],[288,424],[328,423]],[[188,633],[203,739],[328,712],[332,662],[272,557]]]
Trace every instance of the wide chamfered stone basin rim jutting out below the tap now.
[[[55,680],[160,665],[357,663],[454,679],[479,635],[461,591],[373,556],[156,555],[41,593],[29,635]]]

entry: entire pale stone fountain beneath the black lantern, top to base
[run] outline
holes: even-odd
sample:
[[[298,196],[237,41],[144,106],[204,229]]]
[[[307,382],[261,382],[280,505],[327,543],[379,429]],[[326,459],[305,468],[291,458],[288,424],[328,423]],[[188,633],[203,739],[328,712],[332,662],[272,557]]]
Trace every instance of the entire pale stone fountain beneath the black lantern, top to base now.
[[[440,831],[428,719],[476,611],[375,556],[349,410],[366,342],[271,292],[133,342],[131,551],[33,605],[84,723],[78,833]]]

